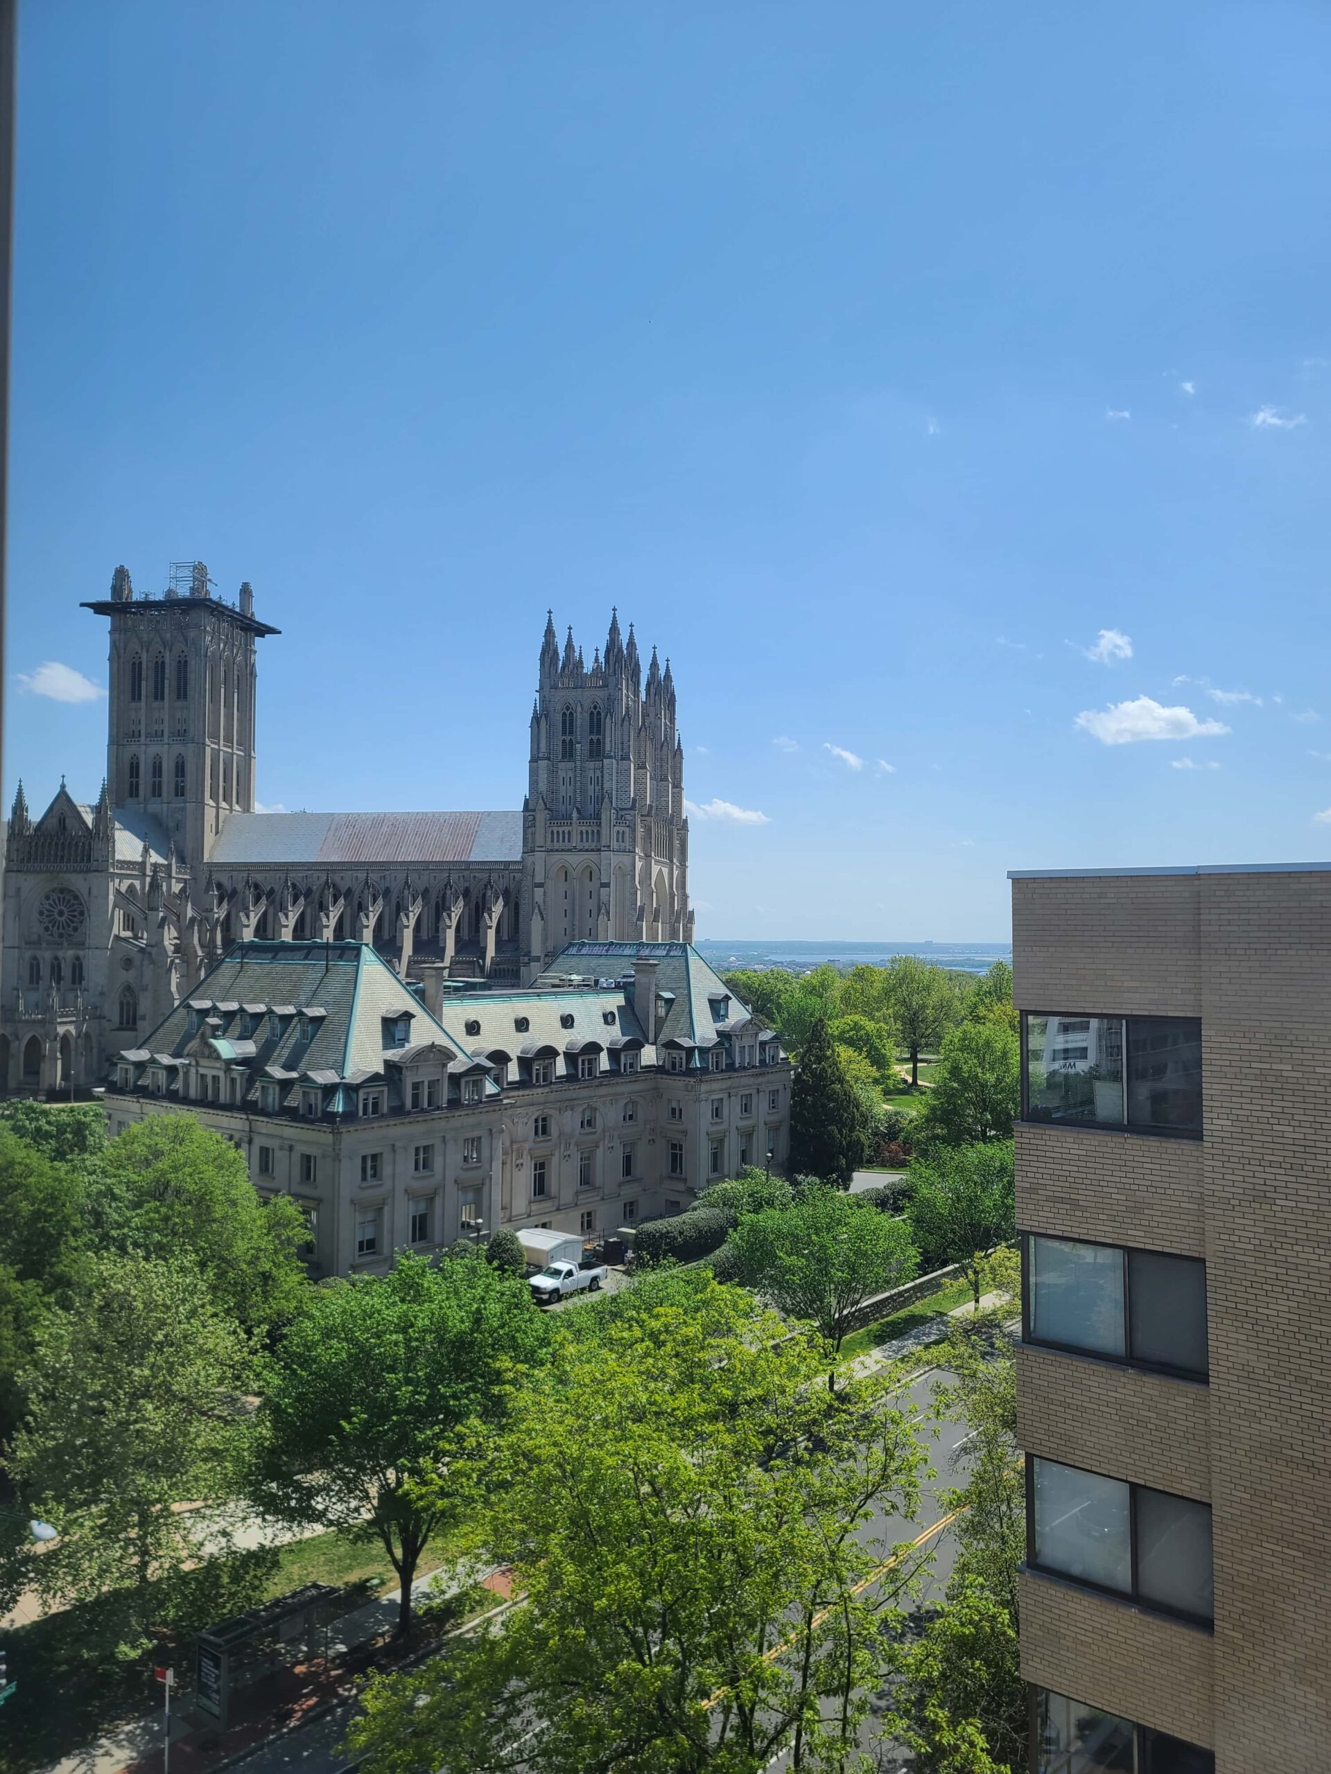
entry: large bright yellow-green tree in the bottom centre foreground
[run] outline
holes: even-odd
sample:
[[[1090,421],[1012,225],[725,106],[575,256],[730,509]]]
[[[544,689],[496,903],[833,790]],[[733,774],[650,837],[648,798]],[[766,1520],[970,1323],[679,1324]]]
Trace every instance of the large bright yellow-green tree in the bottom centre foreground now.
[[[914,1419],[882,1382],[845,1410],[813,1384],[825,1345],[736,1288],[646,1286],[646,1309],[570,1315],[477,1462],[477,1536],[527,1602],[371,1680],[350,1746],[367,1774],[855,1760],[912,1577],[909,1556],[882,1568],[880,1524],[916,1508]]]

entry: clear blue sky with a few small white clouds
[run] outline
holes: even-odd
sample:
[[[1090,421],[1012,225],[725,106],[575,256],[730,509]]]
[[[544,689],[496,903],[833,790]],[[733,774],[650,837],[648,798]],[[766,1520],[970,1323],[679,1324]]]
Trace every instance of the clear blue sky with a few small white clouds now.
[[[1324,857],[1329,186],[1322,4],[23,0],[5,797],[201,557],[284,807],[518,805],[618,603],[701,935]]]

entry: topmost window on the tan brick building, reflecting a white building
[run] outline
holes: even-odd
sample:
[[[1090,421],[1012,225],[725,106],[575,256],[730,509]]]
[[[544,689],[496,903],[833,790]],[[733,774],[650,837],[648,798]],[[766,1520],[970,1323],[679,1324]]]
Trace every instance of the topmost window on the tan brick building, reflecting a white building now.
[[[1201,1022],[1024,1011],[1022,1118],[1200,1137]]]

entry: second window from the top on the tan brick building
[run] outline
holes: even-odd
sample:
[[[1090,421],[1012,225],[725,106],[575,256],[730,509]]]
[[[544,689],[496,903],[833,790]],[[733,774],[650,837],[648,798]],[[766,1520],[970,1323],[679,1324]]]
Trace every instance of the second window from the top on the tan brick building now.
[[[1207,1265],[1074,1238],[1022,1238],[1022,1338],[1205,1380]]]

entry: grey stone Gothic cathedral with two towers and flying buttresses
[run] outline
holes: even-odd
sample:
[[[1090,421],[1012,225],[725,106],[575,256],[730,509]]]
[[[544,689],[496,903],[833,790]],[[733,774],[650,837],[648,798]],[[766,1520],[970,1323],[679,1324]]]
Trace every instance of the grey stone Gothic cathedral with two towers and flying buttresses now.
[[[238,940],[373,944],[403,979],[534,981],[571,942],[690,942],[674,681],[618,614],[586,663],[554,621],[515,812],[256,812],[256,648],[279,633],[172,568],[110,598],[106,777],[4,860],[0,1089],[85,1091]]]

